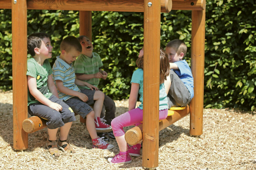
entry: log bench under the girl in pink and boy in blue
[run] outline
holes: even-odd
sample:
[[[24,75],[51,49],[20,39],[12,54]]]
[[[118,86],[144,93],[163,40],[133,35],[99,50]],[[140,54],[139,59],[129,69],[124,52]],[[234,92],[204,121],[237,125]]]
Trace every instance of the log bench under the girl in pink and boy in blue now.
[[[189,114],[189,106],[186,106],[183,110],[173,110],[174,114],[172,116],[168,116],[166,119],[163,119],[159,122],[159,131],[170,126],[174,122],[180,120]],[[150,136],[146,135],[146,137],[150,138]],[[125,140],[129,145],[136,145],[142,140],[142,124],[135,126],[125,133]]]

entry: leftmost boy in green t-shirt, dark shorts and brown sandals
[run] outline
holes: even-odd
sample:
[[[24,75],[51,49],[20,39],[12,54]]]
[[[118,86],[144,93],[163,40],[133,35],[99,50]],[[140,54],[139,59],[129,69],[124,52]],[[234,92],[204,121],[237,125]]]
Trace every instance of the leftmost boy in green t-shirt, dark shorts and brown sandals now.
[[[52,57],[52,49],[47,34],[34,33],[28,37],[28,52],[33,56],[27,62],[28,112],[31,116],[46,120],[49,133],[46,147],[53,157],[59,157],[59,149],[75,153],[66,141],[75,116],[72,109],[58,97],[51,75],[52,68],[47,60]],[[59,128],[60,138],[57,141]]]

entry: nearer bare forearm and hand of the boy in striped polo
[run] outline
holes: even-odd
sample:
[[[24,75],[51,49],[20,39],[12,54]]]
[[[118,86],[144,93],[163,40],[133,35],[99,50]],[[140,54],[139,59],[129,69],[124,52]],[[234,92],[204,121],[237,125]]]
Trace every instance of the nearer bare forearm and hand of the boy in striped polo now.
[[[88,97],[85,94],[65,87],[63,85],[63,81],[61,81],[61,80],[56,80],[56,86],[61,93],[64,93],[64,94],[67,94],[70,96],[76,96],[79,99],[81,99],[83,102],[86,102],[88,100]]]

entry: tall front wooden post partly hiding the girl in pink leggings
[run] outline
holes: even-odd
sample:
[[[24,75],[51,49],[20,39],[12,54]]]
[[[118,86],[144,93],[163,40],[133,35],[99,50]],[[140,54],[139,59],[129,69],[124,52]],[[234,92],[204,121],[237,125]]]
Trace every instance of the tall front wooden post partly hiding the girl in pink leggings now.
[[[160,11],[159,0],[144,0],[142,166],[146,168],[158,166]]]

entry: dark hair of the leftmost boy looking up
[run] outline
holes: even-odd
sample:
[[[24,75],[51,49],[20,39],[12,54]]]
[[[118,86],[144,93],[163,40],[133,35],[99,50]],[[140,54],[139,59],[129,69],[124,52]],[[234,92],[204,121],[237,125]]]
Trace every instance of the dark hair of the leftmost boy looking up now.
[[[28,53],[34,57],[36,55],[34,49],[41,48],[44,38],[50,38],[46,33],[33,33],[28,36]]]

